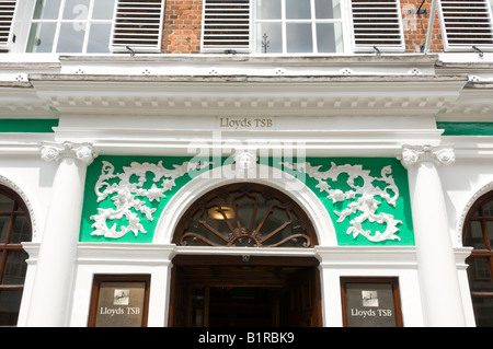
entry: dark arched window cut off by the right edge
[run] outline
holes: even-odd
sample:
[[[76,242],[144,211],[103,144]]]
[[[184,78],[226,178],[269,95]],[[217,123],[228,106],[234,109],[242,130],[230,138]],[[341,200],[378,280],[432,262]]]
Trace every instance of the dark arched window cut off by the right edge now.
[[[472,246],[468,277],[478,327],[493,326],[493,191],[471,208],[463,228],[463,245]]]

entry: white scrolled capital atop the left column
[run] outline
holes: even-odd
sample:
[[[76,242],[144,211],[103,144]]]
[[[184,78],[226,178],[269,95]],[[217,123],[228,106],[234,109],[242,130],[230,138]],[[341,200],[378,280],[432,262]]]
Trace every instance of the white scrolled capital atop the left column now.
[[[43,142],[42,159],[45,161],[58,161],[64,158],[72,158],[90,165],[98,154],[91,143],[73,143],[73,142]]]

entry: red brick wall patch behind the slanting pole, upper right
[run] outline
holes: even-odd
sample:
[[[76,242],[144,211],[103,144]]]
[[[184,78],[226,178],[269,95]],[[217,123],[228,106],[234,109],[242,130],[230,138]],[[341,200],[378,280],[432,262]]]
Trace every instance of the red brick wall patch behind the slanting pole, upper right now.
[[[421,53],[421,45],[425,45],[428,32],[432,1],[424,2],[422,10],[424,14],[410,14],[410,10],[417,10],[423,0],[401,0],[402,24],[404,27],[405,51],[409,54]],[[442,44],[440,24],[438,19],[438,9],[435,12],[435,22],[433,35],[429,45],[429,53],[439,53],[444,50]]]

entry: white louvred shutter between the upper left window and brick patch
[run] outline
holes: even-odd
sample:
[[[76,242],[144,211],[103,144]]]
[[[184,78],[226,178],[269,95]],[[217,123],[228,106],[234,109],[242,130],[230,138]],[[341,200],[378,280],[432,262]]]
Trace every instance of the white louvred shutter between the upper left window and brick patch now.
[[[117,0],[110,49],[160,53],[165,0]]]

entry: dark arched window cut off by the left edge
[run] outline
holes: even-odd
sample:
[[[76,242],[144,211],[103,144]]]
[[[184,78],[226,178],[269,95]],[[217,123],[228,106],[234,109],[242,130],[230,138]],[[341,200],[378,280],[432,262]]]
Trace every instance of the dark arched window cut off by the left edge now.
[[[27,268],[21,242],[31,237],[27,208],[19,195],[0,186],[0,326],[18,324]]]

